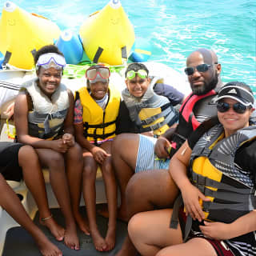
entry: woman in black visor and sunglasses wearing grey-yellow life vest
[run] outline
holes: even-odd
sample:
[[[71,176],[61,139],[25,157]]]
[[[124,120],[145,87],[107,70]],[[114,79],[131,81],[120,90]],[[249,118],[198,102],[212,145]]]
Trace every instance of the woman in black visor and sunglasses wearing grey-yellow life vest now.
[[[175,202],[174,209],[137,214],[129,222],[142,255],[256,254],[254,94],[245,83],[229,82],[216,102],[218,118],[198,126],[170,161],[185,212]]]

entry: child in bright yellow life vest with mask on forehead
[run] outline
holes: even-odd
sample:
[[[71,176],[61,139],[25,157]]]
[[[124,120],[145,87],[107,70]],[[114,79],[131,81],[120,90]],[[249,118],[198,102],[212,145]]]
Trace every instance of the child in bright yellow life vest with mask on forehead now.
[[[106,66],[91,66],[86,70],[87,87],[75,95],[74,127],[76,139],[83,150],[83,195],[96,250],[114,248],[117,218],[117,187],[111,163],[111,142],[115,136],[120,93],[109,86],[110,70]],[[95,208],[95,179],[101,166],[106,186],[109,223],[106,238],[98,231]]]

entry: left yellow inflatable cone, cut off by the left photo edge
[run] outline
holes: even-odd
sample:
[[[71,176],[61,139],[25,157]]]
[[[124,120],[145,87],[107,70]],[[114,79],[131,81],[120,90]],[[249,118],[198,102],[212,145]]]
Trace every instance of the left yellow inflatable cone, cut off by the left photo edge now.
[[[60,35],[58,26],[47,18],[30,14],[6,2],[0,20],[0,51],[6,64],[21,70],[34,66],[33,54],[42,46],[53,44]]]

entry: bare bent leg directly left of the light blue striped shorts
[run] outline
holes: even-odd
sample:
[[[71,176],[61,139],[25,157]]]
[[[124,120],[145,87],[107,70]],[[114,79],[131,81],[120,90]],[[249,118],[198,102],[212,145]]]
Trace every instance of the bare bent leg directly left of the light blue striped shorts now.
[[[112,144],[113,164],[121,194],[118,218],[127,221],[126,186],[134,175],[138,154],[138,134],[119,134]]]

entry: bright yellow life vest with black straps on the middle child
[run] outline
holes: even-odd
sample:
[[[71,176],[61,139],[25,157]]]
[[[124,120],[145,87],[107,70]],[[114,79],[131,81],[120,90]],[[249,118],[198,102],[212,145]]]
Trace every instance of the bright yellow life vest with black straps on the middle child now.
[[[98,106],[97,102],[90,96],[86,87],[82,87],[76,93],[82,104],[82,120],[84,136],[89,142],[97,144],[107,138],[114,138],[116,130],[116,119],[120,106],[121,95],[114,86],[109,86],[109,101],[105,110]]]

